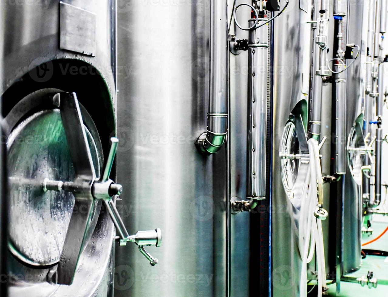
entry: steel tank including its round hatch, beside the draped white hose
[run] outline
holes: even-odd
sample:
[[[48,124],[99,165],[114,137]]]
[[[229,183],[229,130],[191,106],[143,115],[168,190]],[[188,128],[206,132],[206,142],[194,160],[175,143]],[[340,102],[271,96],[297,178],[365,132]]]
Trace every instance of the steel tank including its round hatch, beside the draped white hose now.
[[[281,6],[284,3],[282,1]],[[274,296],[298,296],[301,273],[294,214],[298,215],[306,172],[303,165],[299,170],[298,160],[287,161],[280,155],[300,151],[293,119],[298,118],[298,125],[307,127],[311,3],[301,1],[300,5],[299,2],[290,5],[274,20],[271,274]],[[303,128],[302,131],[305,132]],[[284,137],[286,135],[289,137]],[[286,139],[288,141],[284,142]]]

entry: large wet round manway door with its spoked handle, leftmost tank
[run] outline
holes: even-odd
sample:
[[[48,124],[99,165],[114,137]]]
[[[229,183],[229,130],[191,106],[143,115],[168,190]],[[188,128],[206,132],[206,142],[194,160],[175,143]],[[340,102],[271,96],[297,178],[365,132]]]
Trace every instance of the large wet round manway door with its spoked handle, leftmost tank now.
[[[104,163],[98,131],[76,94],[53,91],[26,96],[3,122],[8,135],[10,252],[28,267],[50,268],[47,282],[70,285],[78,266],[85,269],[81,254],[95,240],[103,203],[120,245],[135,242],[154,266],[158,259],[144,246],[160,246],[161,230],[128,235],[115,206],[114,197],[123,187],[109,176],[118,139],[111,138]]]

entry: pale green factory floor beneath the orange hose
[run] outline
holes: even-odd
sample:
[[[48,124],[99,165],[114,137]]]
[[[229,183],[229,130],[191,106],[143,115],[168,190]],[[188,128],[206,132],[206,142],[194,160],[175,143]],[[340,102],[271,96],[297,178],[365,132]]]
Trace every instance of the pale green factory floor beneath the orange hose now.
[[[388,218],[379,215],[372,220],[373,233],[370,236],[362,235],[362,243],[368,242],[380,235],[388,226]],[[365,245],[365,249],[376,249],[381,251],[388,251],[388,232],[386,232],[380,239]],[[359,271],[346,275],[351,277],[360,277],[367,275],[368,271],[373,271],[373,276],[378,279],[377,288],[368,288],[367,286],[361,287],[359,283],[341,282],[340,294],[336,295],[336,284],[329,285],[329,296],[372,296],[372,297],[387,297],[388,285],[379,284],[380,280],[388,281],[388,257],[384,256],[371,256],[367,255],[362,260],[362,265]]]

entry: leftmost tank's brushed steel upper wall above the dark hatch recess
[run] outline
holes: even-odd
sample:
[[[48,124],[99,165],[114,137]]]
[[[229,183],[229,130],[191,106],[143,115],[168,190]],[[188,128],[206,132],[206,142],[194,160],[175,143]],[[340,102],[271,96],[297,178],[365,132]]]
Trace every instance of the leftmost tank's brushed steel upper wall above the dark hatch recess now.
[[[47,72],[43,77],[37,77],[36,82],[47,82],[53,75],[50,60],[74,58],[97,68],[104,77],[111,93],[111,99],[115,103],[115,0],[64,0],[62,3],[95,14],[95,57],[69,51],[74,48],[60,49],[60,1],[42,2],[42,5],[28,5],[27,3],[12,5],[7,2],[2,5],[5,15],[4,39],[6,40],[3,51],[6,65],[2,81],[3,91],[29,70],[45,62],[47,62]],[[71,63],[69,64],[71,66]],[[64,69],[63,75],[69,74],[69,67],[62,65],[62,69]],[[81,71],[81,69],[76,69],[76,71]],[[125,72],[125,69],[120,71]]]

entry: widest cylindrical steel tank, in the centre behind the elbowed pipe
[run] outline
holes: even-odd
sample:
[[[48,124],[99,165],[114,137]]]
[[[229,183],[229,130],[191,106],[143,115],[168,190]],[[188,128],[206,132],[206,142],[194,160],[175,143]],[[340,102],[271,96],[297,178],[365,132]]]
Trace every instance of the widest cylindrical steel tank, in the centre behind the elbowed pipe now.
[[[204,156],[194,145],[206,127],[213,79],[211,7],[125,3],[118,9],[118,182],[126,190],[118,208],[130,232],[161,228],[163,245],[150,249],[155,267],[135,246],[116,250],[115,295],[225,295],[226,146]],[[217,3],[224,3],[226,28],[226,2]],[[225,50],[226,38],[225,29],[218,39]]]

